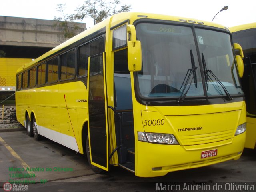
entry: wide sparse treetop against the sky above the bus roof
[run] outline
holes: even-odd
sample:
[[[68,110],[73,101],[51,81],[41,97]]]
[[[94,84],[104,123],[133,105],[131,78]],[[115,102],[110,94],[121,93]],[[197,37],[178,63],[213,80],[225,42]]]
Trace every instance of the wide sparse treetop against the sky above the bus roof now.
[[[131,5],[120,5],[120,0],[112,0],[111,2],[104,0],[87,0],[82,6],[77,8],[76,14],[70,15],[70,18],[73,20],[83,20],[84,18],[90,17],[94,20],[95,25],[110,15],[127,12],[130,9]]]

